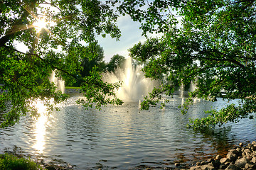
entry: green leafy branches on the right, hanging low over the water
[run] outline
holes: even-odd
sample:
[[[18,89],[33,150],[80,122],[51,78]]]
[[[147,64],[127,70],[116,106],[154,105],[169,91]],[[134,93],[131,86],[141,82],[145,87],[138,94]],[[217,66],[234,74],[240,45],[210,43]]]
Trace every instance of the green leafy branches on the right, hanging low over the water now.
[[[157,29],[164,36],[159,40],[149,38],[130,50],[132,57],[147,61],[144,68],[147,77],[166,76],[162,89],[146,97],[143,106],[156,102],[154,98],[160,98],[163,92],[171,95],[177,84],[196,81],[196,91],[191,97],[211,101],[217,96],[228,100],[240,98],[240,103],[220,111],[208,111],[206,118],[191,120],[193,128],[213,127],[251,117],[250,113],[256,111],[255,1],[156,2],[161,5],[151,6],[151,11],[173,9],[166,16],[161,13],[152,16],[151,21],[159,24]],[[146,28],[153,26],[145,24],[149,24]],[[187,100],[183,113],[189,105],[191,100]]]

